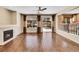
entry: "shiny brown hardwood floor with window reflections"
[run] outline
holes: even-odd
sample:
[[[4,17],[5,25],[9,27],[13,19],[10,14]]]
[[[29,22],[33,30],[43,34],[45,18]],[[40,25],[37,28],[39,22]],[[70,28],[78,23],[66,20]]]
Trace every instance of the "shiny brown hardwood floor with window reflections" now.
[[[77,52],[79,45],[56,34],[22,34],[4,46],[1,52]]]

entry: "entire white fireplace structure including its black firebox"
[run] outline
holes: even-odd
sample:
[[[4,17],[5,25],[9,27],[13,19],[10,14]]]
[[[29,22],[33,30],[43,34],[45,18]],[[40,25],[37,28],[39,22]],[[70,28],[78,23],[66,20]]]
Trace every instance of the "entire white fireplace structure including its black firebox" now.
[[[0,45],[5,45],[15,38],[15,25],[0,26]]]

